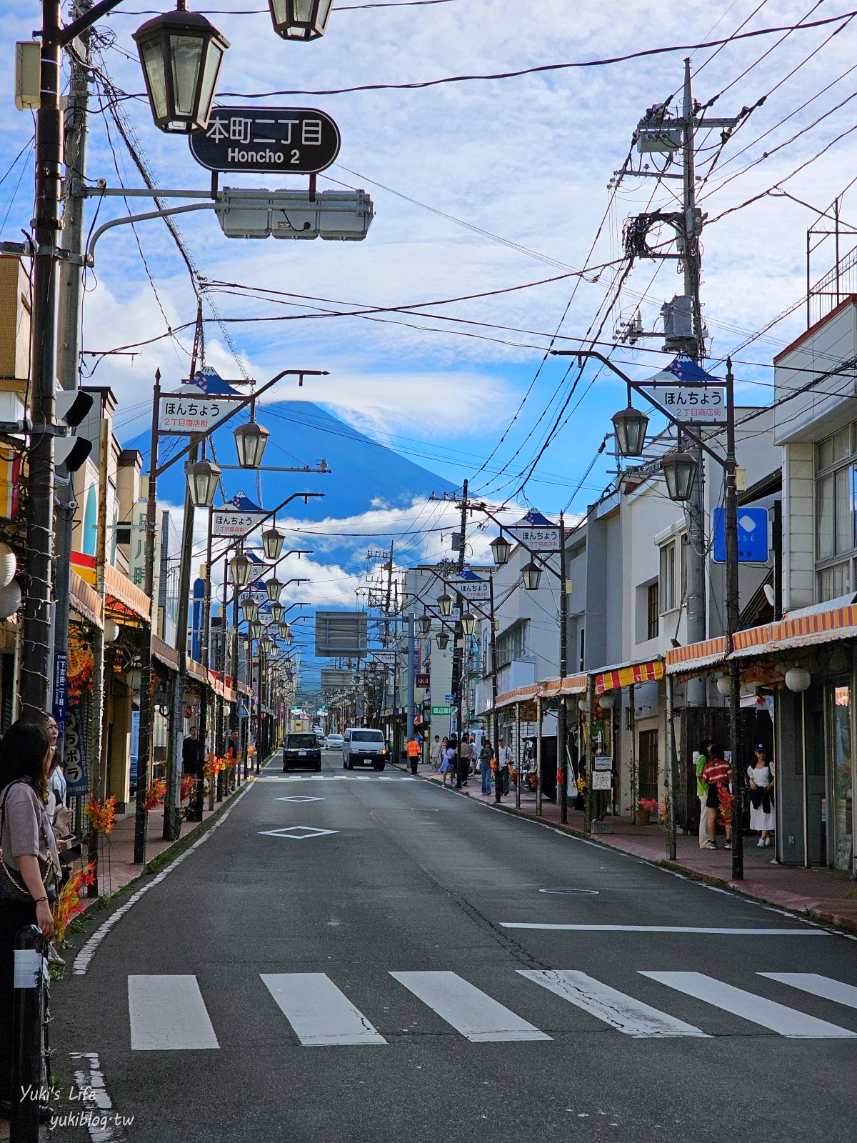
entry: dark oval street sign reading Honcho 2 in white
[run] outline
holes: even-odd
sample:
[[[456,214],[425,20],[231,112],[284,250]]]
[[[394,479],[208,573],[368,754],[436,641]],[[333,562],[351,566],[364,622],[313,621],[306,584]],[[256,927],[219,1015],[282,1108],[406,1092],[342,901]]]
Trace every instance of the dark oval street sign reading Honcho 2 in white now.
[[[208,129],[187,142],[208,170],[314,175],[336,161],[342,137],[315,107],[215,107]]]

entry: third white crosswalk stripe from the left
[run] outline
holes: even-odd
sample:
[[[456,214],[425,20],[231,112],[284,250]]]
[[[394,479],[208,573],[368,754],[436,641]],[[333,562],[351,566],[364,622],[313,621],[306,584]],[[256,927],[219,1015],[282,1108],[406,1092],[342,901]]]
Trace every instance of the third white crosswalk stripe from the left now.
[[[551,1039],[457,973],[390,975],[474,1044]]]

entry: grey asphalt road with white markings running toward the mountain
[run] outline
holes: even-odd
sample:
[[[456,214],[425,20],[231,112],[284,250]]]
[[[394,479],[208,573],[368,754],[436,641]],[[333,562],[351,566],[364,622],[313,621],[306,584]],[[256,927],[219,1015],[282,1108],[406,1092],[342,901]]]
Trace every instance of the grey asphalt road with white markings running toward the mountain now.
[[[333,752],[270,765],[54,1005],[134,1117],[102,1143],[854,1132],[852,940]]]

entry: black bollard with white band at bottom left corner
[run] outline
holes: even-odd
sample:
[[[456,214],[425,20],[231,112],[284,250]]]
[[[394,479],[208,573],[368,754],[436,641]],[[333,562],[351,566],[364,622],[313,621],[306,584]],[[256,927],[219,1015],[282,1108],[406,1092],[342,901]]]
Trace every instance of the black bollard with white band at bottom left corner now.
[[[9,1143],[37,1143],[42,1093],[42,1029],[48,962],[40,928],[27,925],[15,940]]]

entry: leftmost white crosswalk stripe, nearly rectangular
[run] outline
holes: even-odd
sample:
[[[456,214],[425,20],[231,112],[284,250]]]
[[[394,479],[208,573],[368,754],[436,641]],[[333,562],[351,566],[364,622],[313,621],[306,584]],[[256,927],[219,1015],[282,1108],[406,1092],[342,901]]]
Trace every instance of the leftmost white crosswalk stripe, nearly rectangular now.
[[[219,1048],[195,976],[129,976],[133,1052]]]

